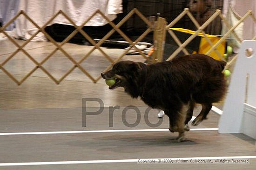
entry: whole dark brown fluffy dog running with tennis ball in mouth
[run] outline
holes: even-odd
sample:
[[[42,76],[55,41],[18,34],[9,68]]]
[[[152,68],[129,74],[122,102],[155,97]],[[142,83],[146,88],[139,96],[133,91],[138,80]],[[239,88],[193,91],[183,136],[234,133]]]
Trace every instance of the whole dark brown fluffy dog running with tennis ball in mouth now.
[[[179,132],[177,141],[189,131],[194,104],[202,111],[192,122],[198,125],[206,119],[212,103],[220,101],[226,91],[222,70],[226,62],[202,54],[175,57],[155,64],[121,61],[101,76],[114,79],[109,89],[123,87],[133,98],[141,97],[148,106],[162,109],[169,117],[171,132]]]

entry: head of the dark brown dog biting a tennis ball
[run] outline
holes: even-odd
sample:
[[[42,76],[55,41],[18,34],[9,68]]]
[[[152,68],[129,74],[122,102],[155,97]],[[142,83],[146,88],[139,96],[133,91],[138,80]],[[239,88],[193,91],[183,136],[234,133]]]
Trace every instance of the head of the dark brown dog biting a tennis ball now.
[[[143,63],[121,61],[115,63],[111,70],[101,73],[101,76],[104,79],[115,79],[115,84],[109,89],[124,87],[125,90],[128,90],[128,88],[136,88],[139,73],[142,70],[141,64]]]

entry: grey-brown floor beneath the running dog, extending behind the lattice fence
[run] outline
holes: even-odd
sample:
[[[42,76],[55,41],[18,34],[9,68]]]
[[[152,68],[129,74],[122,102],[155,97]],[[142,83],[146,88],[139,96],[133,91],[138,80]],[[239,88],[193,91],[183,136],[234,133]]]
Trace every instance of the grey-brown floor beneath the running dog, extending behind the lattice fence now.
[[[24,41],[17,41],[19,44]],[[37,61],[41,61],[54,50],[50,43],[29,43],[25,47]],[[85,55],[90,46],[65,44],[65,50],[76,60]],[[0,63],[16,50],[9,41],[0,41]],[[103,50],[116,58],[120,49]],[[144,61],[140,56],[125,59]],[[55,64],[56,63],[56,64]],[[4,67],[19,80],[34,67],[21,52]],[[82,66],[93,76],[98,76],[110,63],[95,51]],[[72,67],[72,63],[61,53],[56,53],[43,66],[58,78]],[[0,70],[0,134],[6,132],[55,132],[113,129],[167,129],[164,117],[158,127],[149,127],[144,120],[147,106],[141,100],[131,99],[122,88],[111,91],[103,80],[94,84],[80,70],[67,76],[60,85],[37,70],[22,85],[17,86]],[[87,127],[82,127],[82,98],[94,97],[104,102],[101,114],[88,116]],[[109,127],[109,106],[121,106],[115,110],[113,127]],[[141,112],[141,121],[136,127],[123,124],[121,114],[124,107],[133,105]],[[88,109],[98,108],[97,102],[88,102]],[[195,115],[200,107],[195,109]],[[126,120],[135,122],[136,114],[131,110]],[[156,123],[156,110],[149,114],[151,123]],[[193,128],[217,128],[219,115],[209,113],[209,119]],[[68,134],[0,135],[0,164],[46,161],[83,161],[168,157],[221,157],[255,156],[255,140],[243,134],[219,134],[217,131],[187,132],[188,141],[175,143],[176,133],[164,132],[99,132]],[[250,164],[59,164],[30,166],[0,166],[0,170],[84,170],[84,169],[199,169],[199,170],[254,170],[256,159]]]

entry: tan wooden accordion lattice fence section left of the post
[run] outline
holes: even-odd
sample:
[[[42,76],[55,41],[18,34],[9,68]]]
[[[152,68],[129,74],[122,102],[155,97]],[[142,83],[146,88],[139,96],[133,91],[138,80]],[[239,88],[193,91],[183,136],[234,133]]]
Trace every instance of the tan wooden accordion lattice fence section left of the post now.
[[[92,19],[96,14],[100,14],[104,19],[106,19],[106,21],[108,22],[109,25],[111,25],[113,27],[113,29],[111,31],[109,31],[98,43],[95,43],[95,41],[85,32],[82,30],[83,25],[85,25],[90,19]],[[131,18],[134,14],[137,14],[147,25],[148,25],[148,29],[146,31],[144,31],[140,37],[138,37],[134,42],[128,38],[127,35],[125,35],[119,28],[121,27],[121,25],[123,25],[129,18]],[[20,15],[23,15],[27,20],[29,20],[37,29],[38,31],[36,31],[29,39],[27,39],[22,45],[19,45],[18,43],[16,43],[13,38],[11,38],[4,30],[5,28],[10,25],[15,19],[17,19]],[[75,30],[69,34],[67,36],[67,38],[65,38],[60,44],[57,44],[57,42],[45,31],[45,28],[47,25],[49,25],[58,15],[63,15],[75,28]],[[75,25],[74,21],[72,19],[70,19],[63,11],[59,11],[58,13],[54,14],[54,16],[49,19],[42,27],[40,27],[39,25],[37,25],[24,11],[20,11],[19,13],[17,13],[13,19],[11,19],[7,24],[3,25],[3,27],[0,27],[0,32],[2,32],[5,36],[7,36],[7,38],[17,47],[17,49],[9,56],[7,57],[7,59],[5,59],[2,63],[0,63],[0,69],[2,69],[2,71],[4,73],[7,74],[7,76],[9,76],[14,82],[16,82],[18,85],[20,85],[22,82],[24,82],[30,75],[32,75],[34,73],[35,70],[37,69],[41,69],[45,74],[47,74],[47,76],[49,76],[56,84],[59,84],[65,77],[67,77],[75,68],[79,68],[86,76],[88,76],[94,83],[96,83],[97,81],[99,81],[99,79],[101,78],[101,76],[99,75],[98,77],[94,78],[93,76],[91,76],[88,71],[86,69],[84,69],[80,64],[95,50],[98,49],[99,51],[101,51],[102,55],[108,59],[108,61],[110,61],[110,65],[105,69],[108,70],[112,67],[112,65],[116,62],[118,62],[122,57],[124,57],[127,52],[134,47],[140,54],[142,57],[144,57],[146,60],[149,60],[148,57],[146,57],[146,55],[140,50],[138,49],[135,44],[137,44],[139,41],[141,41],[141,39],[143,39],[145,36],[148,35],[148,33],[152,30],[153,25],[148,21],[148,19],[146,17],[144,17],[137,9],[133,9],[131,12],[129,12],[127,14],[127,16],[125,16],[117,25],[115,25],[112,21],[110,21],[108,19],[108,17],[106,17],[100,10],[96,10],[88,19],[86,19],[83,24],[81,24],[81,26],[77,26]],[[101,49],[101,44],[104,43],[104,41],[106,41],[115,31],[117,31],[122,38],[124,38],[129,44],[129,48],[127,50],[125,50],[123,52],[123,54],[121,56],[119,56],[118,58],[116,58],[115,60],[113,60],[111,57],[108,56],[108,54],[106,54],[102,49]],[[24,50],[24,46],[26,44],[28,44],[39,32],[42,32],[47,38],[48,40],[54,44],[56,46],[56,48],[47,55],[47,57],[45,57],[41,62],[37,62],[34,57],[32,57],[30,54],[27,53],[26,50]],[[74,60],[74,58],[67,53],[66,50],[64,50],[62,48],[62,46],[64,44],[66,44],[71,38],[74,37],[74,35],[76,33],[80,32],[81,35],[86,38],[93,46],[94,48],[89,50],[89,52],[82,57],[78,62],[76,62]],[[52,76],[52,74],[47,71],[47,69],[45,69],[43,67],[43,63],[45,63],[50,57],[52,57],[54,55],[54,53],[60,50],[74,65],[71,69],[69,69],[67,71],[67,73],[65,73],[59,80],[57,80],[56,78],[54,78],[54,76]],[[20,81],[17,80],[10,72],[8,72],[5,68],[4,65],[11,59],[13,58],[19,51],[22,51],[34,64],[35,67],[34,69],[32,69],[27,75],[25,75]]]

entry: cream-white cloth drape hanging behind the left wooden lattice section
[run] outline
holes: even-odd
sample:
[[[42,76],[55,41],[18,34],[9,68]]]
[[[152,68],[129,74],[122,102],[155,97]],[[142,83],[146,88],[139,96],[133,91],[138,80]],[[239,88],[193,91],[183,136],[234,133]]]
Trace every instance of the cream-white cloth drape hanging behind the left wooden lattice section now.
[[[96,9],[113,20],[117,13],[122,13],[122,0],[19,0],[17,7],[17,11],[24,10],[39,26],[44,25],[59,10],[65,12],[76,25],[81,25]],[[56,17],[49,25],[54,23],[71,25],[62,15]],[[106,24],[106,20],[97,14],[86,26]],[[23,16],[15,20],[15,27],[16,29],[10,32],[15,38],[27,39],[37,31],[37,28]],[[40,33],[33,41],[47,41],[47,39]]]

